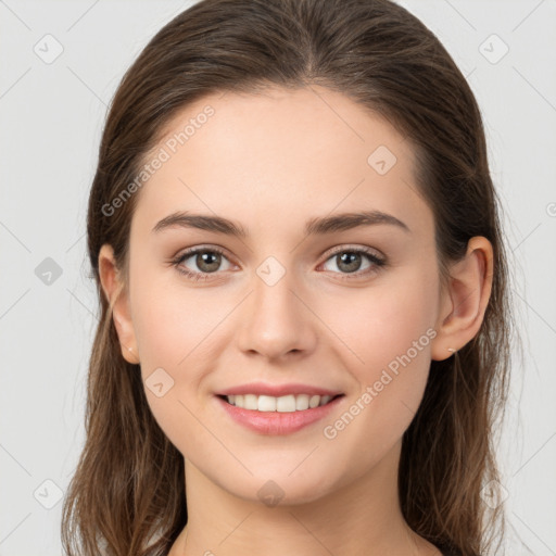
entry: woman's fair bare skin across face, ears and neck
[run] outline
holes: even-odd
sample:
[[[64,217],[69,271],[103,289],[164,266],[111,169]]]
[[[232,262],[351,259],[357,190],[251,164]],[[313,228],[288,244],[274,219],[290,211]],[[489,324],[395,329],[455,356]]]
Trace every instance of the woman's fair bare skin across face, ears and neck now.
[[[448,348],[460,349],[480,328],[490,242],[472,238],[442,289],[433,215],[416,192],[410,144],[324,88],[206,97],[174,117],[153,151],[206,104],[215,114],[136,193],[128,283],[110,245],[99,255],[123,356],[140,364],[143,380],[160,367],[174,380],[161,397],[146,388],[156,421],[185,457],[189,523],[170,556],[440,554],[401,514],[402,435],[431,359],[452,356]],[[367,163],[379,146],[397,159],[384,175]],[[151,231],[177,210],[231,218],[249,236]],[[381,224],[304,233],[311,217],[361,210],[392,214],[410,232]],[[169,263],[187,248],[211,245],[226,255],[212,263],[215,273],[204,270],[206,281]],[[368,274],[374,264],[363,254],[350,274],[331,254],[339,247],[367,247],[388,265]],[[274,286],[256,273],[268,256],[286,270]],[[195,255],[181,265],[206,268]],[[434,338],[344,430],[325,438],[324,427],[427,330]],[[324,421],[264,435],[232,421],[215,399],[255,380],[318,384],[345,396]],[[257,495],[268,480],[283,494],[274,507]]]

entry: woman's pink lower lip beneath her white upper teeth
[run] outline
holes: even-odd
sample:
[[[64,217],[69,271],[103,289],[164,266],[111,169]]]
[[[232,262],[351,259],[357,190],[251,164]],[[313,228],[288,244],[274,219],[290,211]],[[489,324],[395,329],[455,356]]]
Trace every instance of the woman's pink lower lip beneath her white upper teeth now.
[[[240,425],[261,434],[290,434],[326,417],[344,396],[338,396],[326,405],[302,412],[256,412],[243,409],[216,396],[228,415]]]

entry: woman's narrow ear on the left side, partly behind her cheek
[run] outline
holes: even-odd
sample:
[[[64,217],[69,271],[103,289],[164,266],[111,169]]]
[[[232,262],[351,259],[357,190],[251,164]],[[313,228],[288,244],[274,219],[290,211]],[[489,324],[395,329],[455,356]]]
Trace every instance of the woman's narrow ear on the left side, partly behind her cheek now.
[[[102,289],[116,327],[122,355],[134,365],[139,364],[137,341],[129,312],[129,299],[121,273],[117,269],[112,245],[105,243],[99,252],[99,275]]]

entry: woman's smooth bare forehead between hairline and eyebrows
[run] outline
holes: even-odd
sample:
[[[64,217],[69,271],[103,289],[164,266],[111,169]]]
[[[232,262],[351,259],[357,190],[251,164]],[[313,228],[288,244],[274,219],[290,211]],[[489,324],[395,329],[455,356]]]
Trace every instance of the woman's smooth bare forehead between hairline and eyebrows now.
[[[247,228],[299,220],[301,230],[307,217],[365,208],[432,231],[410,143],[377,114],[320,87],[204,97],[164,127],[144,162],[155,159],[163,162],[140,188],[136,227],[187,210]]]

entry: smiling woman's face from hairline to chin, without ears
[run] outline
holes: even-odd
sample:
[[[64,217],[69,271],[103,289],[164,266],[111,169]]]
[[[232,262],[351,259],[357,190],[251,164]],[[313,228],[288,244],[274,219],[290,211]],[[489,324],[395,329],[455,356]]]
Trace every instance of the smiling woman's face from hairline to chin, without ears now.
[[[324,88],[228,92],[182,111],[146,163],[131,343],[188,465],[242,498],[299,503],[396,454],[442,308],[433,215],[404,137]],[[375,212],[389,216],[357,217]],[[160,224],[176,213],[204,219]],[[220,397],[237,388],[248,409]],[[342,395],[303,409],[319,391]],[[286,410],[258,410],[274,403]]]

